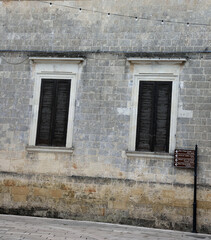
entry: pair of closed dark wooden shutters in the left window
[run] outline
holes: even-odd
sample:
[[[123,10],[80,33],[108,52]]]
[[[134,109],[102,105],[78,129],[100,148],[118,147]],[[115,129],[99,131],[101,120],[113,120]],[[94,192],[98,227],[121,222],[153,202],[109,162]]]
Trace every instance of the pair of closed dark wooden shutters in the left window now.
[[[66,145],[69,99],[69,80],[42,79],[36,145]]]

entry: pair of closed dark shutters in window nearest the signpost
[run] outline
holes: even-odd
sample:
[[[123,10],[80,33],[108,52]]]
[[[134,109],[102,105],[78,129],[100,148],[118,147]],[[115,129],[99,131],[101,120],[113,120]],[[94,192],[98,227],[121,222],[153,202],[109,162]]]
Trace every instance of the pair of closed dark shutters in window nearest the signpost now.
[[[136,150],[168,152],[171,82],[140,82]]]

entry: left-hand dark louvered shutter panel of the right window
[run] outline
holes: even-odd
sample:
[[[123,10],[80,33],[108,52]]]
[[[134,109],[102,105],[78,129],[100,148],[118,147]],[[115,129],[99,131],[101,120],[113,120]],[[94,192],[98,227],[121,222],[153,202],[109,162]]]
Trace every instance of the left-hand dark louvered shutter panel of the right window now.
[[[136,150],[152,151],[154,83],[140,82]]]

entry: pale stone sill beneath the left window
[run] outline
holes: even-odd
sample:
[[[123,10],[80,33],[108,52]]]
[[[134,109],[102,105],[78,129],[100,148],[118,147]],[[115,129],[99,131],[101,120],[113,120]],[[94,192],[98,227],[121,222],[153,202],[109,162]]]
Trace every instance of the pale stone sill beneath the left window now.
[[[40,153],[73,153],[73,148],[65,147],[48,147],[48,146],[26,146],[26,151],[28,152],[40,152]]]

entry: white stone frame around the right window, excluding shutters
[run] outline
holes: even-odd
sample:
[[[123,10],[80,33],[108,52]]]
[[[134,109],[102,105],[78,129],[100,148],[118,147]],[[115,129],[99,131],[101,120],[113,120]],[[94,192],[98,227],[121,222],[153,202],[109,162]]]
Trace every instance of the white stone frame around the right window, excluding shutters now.
[[[127,156],[169,157],[176,147],[176,129],[178,118],[179,74],[186,59],[161,58],[128,58],[132,79],[132,98],[130,114],[130,131]],[[169,152],[139,152],[135,150],[137,130],[137,108],[140,81],[170,81],[172,82],[172,99],[170,114]]]

